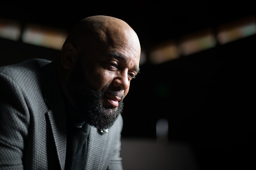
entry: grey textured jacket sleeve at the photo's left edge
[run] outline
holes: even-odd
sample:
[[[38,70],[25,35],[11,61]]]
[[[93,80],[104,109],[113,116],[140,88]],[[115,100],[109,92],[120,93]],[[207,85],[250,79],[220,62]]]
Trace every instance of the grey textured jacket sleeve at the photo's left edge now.
[[[0,169],[23,169],[29,114],[20,86],[0,73]]]

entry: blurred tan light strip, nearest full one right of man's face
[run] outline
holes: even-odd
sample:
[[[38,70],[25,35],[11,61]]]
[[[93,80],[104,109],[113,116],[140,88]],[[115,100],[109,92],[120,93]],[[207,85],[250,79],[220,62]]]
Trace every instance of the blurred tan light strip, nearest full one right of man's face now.
[[[149,61],[153,64],[165,63],[179,57],[178,46],[173,41],[152,48],[148,54]]]

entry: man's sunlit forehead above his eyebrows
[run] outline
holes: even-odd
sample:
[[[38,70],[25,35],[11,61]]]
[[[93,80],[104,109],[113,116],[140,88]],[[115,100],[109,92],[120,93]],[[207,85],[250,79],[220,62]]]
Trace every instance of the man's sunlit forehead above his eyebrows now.
[[[140,42],[132,29],[115,27],[113,29],[98,30],[90,36],[87,52],[99,60],[110,58],[122,61],[127,67],[139,67]]]

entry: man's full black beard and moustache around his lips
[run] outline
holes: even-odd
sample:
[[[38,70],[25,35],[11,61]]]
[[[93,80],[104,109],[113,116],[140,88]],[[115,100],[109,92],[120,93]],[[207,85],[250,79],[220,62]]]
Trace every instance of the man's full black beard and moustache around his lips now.
[[[77,64],[76,70],[70,75],[67,86],[78,114],[85,122],[97,129],[109,128],[114,124],[118,115],[123,112],[124,104],[123,97],[120,96],[121,91],[101,92],[94,90],[85,75],[82,74],[81,68],[81,65]],[[121,97],[118,107],[106,108],[104,106],[102,98],[106,93]]]

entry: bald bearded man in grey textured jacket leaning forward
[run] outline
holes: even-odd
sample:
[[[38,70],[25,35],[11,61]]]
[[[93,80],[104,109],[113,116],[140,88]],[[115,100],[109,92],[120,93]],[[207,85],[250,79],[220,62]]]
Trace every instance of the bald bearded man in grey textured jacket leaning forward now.
[[[0,169],[123,169],[123,99],[140,42],[123,20],[92,16],[56,60],[0,68]]]

